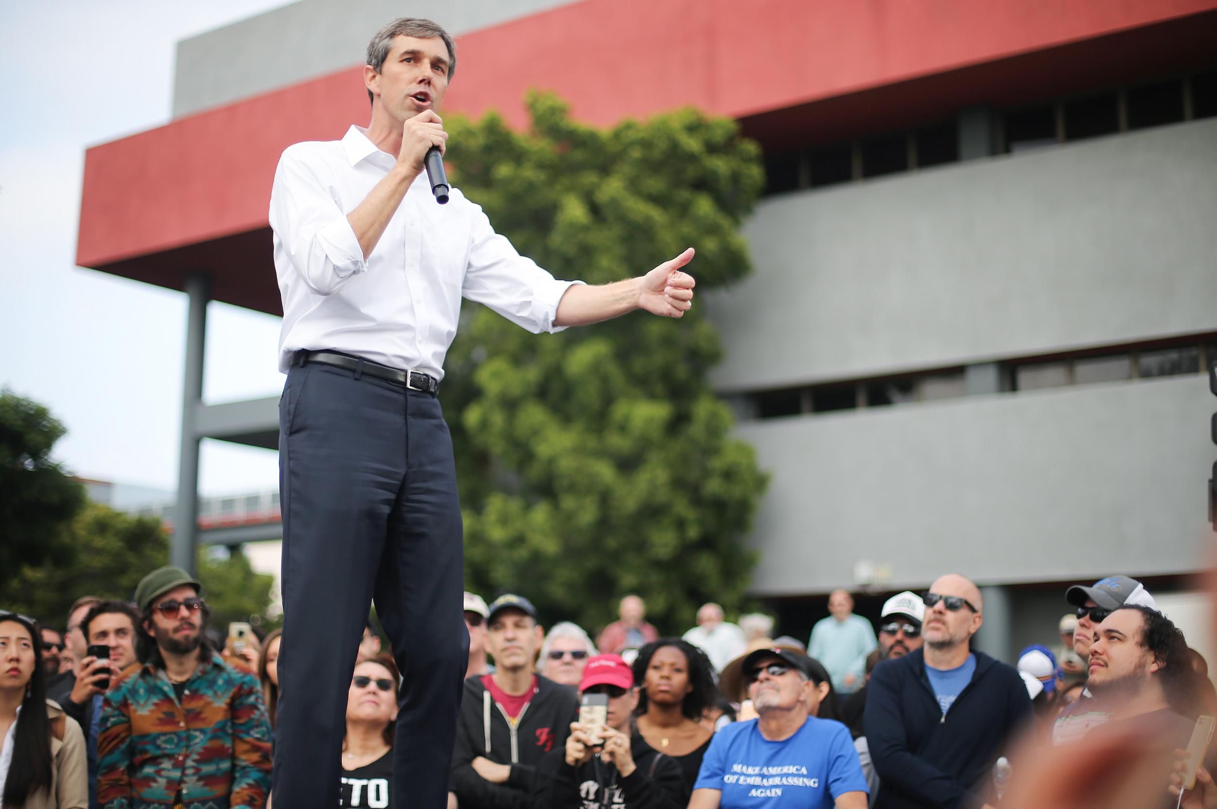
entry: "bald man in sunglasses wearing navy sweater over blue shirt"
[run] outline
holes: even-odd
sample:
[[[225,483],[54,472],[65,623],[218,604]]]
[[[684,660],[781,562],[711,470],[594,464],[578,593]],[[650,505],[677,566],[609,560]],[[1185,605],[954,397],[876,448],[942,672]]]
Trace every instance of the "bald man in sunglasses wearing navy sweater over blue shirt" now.
[[[1015,668],[971,648],[983,612],[975,584],[941,577],[925,594],[925,645],[870,675],[864,724],[879,809],[996,805],[993,764],[1032,712]]]

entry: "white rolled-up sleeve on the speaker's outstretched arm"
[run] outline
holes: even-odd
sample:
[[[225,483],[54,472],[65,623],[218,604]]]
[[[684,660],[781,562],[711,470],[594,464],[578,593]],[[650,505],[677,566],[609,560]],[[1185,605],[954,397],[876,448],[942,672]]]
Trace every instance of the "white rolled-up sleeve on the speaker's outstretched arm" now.
[[[469,206],[473,223],[461,296],[533,333],[565,330],[554,325],[557,304],[571,286],[583,281],[559,281],[494,232],[479,206]]]

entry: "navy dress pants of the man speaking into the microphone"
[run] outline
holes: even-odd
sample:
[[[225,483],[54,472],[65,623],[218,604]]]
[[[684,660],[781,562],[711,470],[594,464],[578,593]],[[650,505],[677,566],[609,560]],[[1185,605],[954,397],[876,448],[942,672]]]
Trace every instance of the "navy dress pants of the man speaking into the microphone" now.
[[[295,365],[279,423],[285,614],[275,809],[338,805],[347,693],[374,600],[403,675],[392,802],[443,809],[469,633],[439,400],[354,371]]]

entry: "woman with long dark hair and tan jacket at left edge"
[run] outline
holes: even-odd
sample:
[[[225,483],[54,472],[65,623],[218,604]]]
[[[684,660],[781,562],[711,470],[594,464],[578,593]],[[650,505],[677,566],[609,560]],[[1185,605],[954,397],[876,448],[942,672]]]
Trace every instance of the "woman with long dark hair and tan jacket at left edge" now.
[[[33,618],[0,611],[0,804],[86,809],[84,734],[46,698],[40,647]]]

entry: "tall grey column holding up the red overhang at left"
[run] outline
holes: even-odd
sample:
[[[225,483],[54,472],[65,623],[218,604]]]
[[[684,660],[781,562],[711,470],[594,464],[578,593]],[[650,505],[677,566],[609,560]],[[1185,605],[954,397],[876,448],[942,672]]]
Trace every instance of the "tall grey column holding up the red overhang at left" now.
[[[198,545],[198,427],[203,403],[203,343],[207,337],[207,303],[211,279],[196,273],[186,280],[190,310],[186,315],[186,372],[181,384],[181,455],[178,464],[178,506],[173,521],[169,563],[191,575]]]

